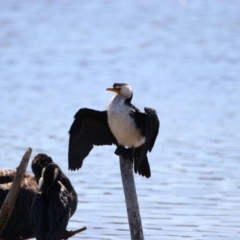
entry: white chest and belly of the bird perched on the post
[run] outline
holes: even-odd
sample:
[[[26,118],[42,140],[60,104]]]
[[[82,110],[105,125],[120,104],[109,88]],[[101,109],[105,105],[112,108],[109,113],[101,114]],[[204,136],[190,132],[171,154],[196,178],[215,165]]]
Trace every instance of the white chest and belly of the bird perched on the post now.
[[[124,99],[114,97],[107,106],[108,124],[120,145],[139,147],[145,142],[145,137],[136,128],[134,119],[129,114],[130,110]]]

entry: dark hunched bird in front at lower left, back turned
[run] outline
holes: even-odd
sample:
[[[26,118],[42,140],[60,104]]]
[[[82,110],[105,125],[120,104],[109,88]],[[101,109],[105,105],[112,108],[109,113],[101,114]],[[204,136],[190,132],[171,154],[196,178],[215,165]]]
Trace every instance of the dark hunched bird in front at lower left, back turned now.
[[[38,171],[38,167],[35,171]],[[69,218],[77,207],[77,195],[57,164],[47,164],[41,172],[39,191],[30,212],[37,240],[65,239]],[[64,184],[65,183],[65,184]]]

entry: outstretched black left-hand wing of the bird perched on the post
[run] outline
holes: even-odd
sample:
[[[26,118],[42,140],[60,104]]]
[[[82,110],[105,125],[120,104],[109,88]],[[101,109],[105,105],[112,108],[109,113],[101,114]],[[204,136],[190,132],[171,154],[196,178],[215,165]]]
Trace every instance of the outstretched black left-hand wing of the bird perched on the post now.
[[[82,108],[75,114],[69,130],[68,167],[70,170],[81,168],[84,158],[93,145],[117,144],[110,131],[107,111]]]

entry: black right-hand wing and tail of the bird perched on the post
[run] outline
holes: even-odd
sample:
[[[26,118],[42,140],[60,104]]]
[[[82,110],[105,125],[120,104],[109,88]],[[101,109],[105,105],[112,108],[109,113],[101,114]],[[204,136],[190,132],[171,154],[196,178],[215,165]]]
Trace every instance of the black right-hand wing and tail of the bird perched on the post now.
[[[160,122],[156,111],[151,108],[144,108],[145,114],[137,112],[136,119],[137,126],[139,125],[142,129],[142,134],[145,135],[146,140],[142,146],[135,149],[134,153],[134,171],[140,175],[150,177],[151,171],[148,163],[147,152],[151,152],[155,140],[158,135]]]

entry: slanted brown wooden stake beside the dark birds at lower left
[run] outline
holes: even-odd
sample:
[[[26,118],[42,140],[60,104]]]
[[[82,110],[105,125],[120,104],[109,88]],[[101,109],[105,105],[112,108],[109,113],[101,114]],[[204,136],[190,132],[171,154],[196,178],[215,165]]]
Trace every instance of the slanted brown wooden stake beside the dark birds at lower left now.
[[[27,168],[31,153],[32,153],[32,149],[28,148],[26,153],[23,155],[22,161],[19,164],[19,166],[17,167],[17,172],[14,177],[12,187],[9,190],[9,193],[8,193],[5,201],[3,202],[2,208],[0,210],[0,236],[7,224],[8,219],[10,218],[12,210],[14,208],[18,193],[21,188],[21,182],[22,182],[22,179],[26,172],[26,168]],[[14,229],[13,229],[13,231],[14,231]]]

